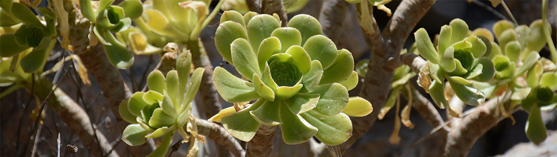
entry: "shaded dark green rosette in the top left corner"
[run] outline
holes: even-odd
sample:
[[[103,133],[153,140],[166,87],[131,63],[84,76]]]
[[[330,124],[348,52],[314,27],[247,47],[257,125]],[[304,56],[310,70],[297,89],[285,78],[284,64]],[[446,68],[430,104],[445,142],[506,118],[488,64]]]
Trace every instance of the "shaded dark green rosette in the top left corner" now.
[[[36,72],[46,63],[56,43],[56,14],[46,8],[37,8],[43,15],[43,23],[24,4],[13,1],[2,1],[0,4],[3,14],[0,25],[9,27],[3,28],[6,32],[0,36],[0,57],[18,56],[25,52],[20,61],[23,72]],[[17,24],[19,21],[23,24]],[[13,32],[14,29],[17,31]],[[29,48],[31,52],[26,51]]]

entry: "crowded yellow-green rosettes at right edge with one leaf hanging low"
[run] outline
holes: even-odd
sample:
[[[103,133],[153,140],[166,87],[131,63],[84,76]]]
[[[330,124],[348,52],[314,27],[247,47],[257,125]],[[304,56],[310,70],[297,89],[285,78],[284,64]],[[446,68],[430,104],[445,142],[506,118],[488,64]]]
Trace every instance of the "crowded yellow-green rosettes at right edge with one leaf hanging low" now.
[[[497,79],[485,89],[499,90],[508,85],[512,91],[511,100],[522,105],[530,113],[526,122],[526,135],[534,143],[541,143],[547,137],[545,124],[541,120],[541,110],[551,110],[557,105],[557,66],[548,59],[541,58],[539,52],[547,43],[543,32],[543,21],[537,20],[530,26],[515,27],[509,21],[499,21],[494,25],[495,37],[491,58],[494,60]],[[522,81],[514,81],[517,80]]]

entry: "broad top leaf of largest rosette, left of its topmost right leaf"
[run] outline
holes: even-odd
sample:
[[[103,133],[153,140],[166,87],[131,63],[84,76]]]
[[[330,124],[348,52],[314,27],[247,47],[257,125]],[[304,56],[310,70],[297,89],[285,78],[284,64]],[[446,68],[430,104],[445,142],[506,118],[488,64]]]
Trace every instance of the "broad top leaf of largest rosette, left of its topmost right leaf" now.
[[[278,27],[280,27],[278,21],[268,14],[253,17],[247,24],[247,36],[253,50],[259,49],[263,39],[271,37],[271,33]]]

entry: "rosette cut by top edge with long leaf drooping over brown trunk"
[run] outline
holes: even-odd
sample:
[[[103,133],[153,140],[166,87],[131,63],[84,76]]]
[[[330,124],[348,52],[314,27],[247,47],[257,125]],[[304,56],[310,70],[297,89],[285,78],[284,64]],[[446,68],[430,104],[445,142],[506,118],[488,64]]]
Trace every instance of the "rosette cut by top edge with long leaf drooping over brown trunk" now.
[[[93,24],[93,32],[105,50],[106,57],[116,68],[127,69],[134,62],[134,55],[112,33],[131,26],[131,20],[141,16],[143,7],[139,0],[125,0],[118,6],[114,0],[99,1],[94,11],[90,0],[80,0],[81,14]]]

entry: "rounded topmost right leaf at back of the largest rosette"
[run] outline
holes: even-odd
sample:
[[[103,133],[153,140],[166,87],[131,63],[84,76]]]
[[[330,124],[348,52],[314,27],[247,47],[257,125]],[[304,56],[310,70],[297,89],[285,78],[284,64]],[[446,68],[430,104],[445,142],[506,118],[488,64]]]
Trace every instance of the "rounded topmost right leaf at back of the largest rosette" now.
[[[321,35],[321,24],[314,17],[307,14],[298,14],[288,23],[288,27],[296,28],[300,31],[302,40],[300,45],[305,45],[310,37]],[[306,49],[307,50],[307,49]],[[336,50],[336,48],[335,48]],[[325,66],[329,67],[329,66]]]

